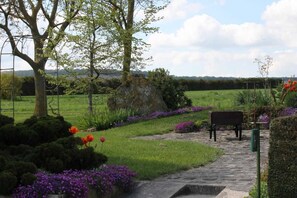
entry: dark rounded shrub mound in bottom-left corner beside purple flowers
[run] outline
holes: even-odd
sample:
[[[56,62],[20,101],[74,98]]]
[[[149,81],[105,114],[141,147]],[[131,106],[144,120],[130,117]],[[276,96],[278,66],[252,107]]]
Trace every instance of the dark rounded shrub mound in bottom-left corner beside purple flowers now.
[[[17,177],[10,172],[0,172],[0,195],[10,195],[17,186]]]

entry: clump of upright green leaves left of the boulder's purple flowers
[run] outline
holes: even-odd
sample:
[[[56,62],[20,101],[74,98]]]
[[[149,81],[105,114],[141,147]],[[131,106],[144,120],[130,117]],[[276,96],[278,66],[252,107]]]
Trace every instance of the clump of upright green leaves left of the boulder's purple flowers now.
[[[129,116],[134,115],[131,109],[117,109],[109,111],[108,108],[102,110],[94,109],[92,113],[86,113],[82,118],[85,128],[96,127],[97,130],[111,128],[115,123],[124,122]]]

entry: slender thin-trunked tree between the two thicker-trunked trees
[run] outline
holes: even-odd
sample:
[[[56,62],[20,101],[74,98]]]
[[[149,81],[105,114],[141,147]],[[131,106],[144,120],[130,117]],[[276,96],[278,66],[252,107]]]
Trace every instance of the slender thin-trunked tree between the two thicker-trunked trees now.
[[[73,79],[68,90],[88,94],[89,112],[93,111],[95,80],[103,70],[117,66],[119,53],[119,48],[114,45],[114,40],[104,25],[109,22],[105,18],[103,5],[98,0],[84,0],[80,16],[73,23],[75,31],[67,34],[67,48],[71,49],[71,53],[59,53],[63,56],[58,58],[63,60],[60,65],[69,71]],[[73,70],[75,68],[79,69],[79,73]]]

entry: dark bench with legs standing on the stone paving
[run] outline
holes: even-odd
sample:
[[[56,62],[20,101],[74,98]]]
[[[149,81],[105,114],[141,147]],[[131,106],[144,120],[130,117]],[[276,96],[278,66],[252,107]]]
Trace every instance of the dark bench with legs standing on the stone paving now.
[[[220,125],[232,125],[234,126],[236,137],[239,135],[241,140],[242,135],[242,123],[243,123],[243,112],[242,111],[213,111],[210,113],[210,131],[209,138],[212,138],[212,132],[214,141],[217,141],[217,126]],[[239,132],[239,134],[238,134]]]

